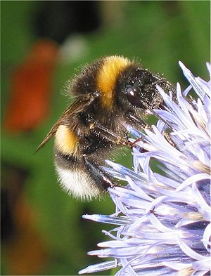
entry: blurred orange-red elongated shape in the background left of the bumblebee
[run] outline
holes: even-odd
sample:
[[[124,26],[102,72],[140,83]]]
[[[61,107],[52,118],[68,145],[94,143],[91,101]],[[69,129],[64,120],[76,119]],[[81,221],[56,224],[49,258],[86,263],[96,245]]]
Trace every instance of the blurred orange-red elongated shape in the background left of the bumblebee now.
[[[11,133],[36,128],[49,114],[51,80],[58,58],[58,46],[41,40],[11,76],[11,97],[4,127]]]

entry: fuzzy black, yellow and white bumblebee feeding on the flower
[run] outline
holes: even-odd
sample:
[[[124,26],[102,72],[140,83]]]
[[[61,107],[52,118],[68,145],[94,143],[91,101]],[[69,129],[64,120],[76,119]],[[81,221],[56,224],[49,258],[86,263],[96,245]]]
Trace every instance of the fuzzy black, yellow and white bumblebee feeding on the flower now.
[[[162,105],[156,89],[170,84],[122,56],[96,60],[72,80],[69,90],[75,102],[68,107],[37,150],[55,136],[58,180],[79,199],[100,196],[113,179],[102,166],[113,148],[130,145],[127,125],[146,126],[146,110]],[[141,119],[142,118],[142,119]]]

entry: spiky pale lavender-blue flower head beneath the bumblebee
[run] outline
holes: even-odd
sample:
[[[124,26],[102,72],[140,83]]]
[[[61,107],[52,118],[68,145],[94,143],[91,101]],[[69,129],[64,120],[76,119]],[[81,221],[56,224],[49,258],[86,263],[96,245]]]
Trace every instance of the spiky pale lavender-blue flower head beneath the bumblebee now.
[[[127,181],[109,190],[115,213],[83,216],[116,225],[103,231],[110,237],[98,244],[103,249],[89,252],[113,261],[79,274],[120,267],[116,275],[210,275],[210,81],[179,65],[190,85],[182,93],[177,84],[177,100],[158,86],[165,110],[155,110],[162,118],[157,126],[144,133],[128,127],[142,138],[132,152],[134,171],[107,161],[108,173]],[[186,97],[192,89],[196,100]],[[153,171],[153,159],[160,173]]]

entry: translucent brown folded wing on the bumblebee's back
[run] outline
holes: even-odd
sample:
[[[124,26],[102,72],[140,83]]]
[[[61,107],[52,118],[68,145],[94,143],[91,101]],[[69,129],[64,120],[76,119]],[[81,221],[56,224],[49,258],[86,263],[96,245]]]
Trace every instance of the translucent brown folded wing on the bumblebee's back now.
[[[43,147],[47,142],[49,142],[49,140],[53,136],[55,136],[58,126],[60,126],[60,124],[63,124],[63,121],[66,117],[70,117],[72,114],[82,112],[82,110],[84,110],[84,107],[89,106],[95,98],[96,98],[96,96],[89,94],[87,96],[82,96],[82,98],[79,98],[78,100],[75,101],[75,103],[70,105],[67,108],[67,110],[65,110],[65,112],[61,115],[61,117],[58,119],[56,124],[54,124],[52,126],[51,130],[46,135],[44,140],[39,144],[39,146],[37,147],[37,150],[35,152],[37,152],[41,147]],[[69,124],[69,126],[70,126],[70,124]]]

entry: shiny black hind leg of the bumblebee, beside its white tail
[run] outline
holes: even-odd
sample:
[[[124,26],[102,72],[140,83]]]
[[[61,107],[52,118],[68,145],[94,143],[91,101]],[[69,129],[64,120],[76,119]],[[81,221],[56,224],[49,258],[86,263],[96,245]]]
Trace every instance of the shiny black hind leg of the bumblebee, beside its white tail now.
[[[91,175],[91,178],[103,188],[103,190],[108,190],[108,188],[114,188],[115,184],[111,180],[111,178],[106,174],[102,169],[100,169],[96,164],[89,161],[87,157],[84,155],[84,162],[87,166],[87,169]]]

